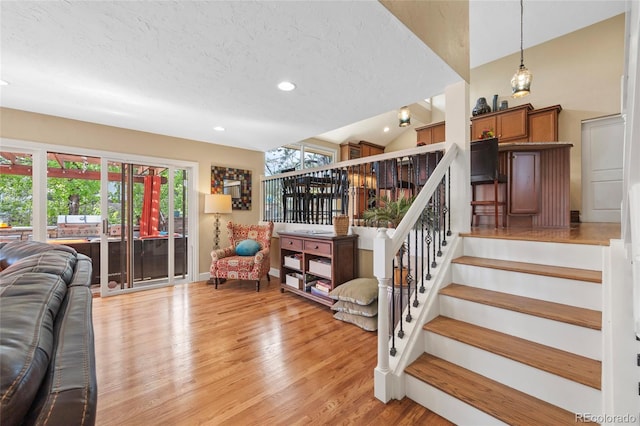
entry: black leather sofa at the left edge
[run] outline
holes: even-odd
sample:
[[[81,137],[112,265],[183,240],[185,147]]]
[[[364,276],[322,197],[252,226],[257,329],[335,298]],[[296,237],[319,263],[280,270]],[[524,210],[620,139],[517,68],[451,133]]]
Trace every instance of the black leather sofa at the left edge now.
[[[93,425],[91,260],[70,247],[0,243],[0,424]]]

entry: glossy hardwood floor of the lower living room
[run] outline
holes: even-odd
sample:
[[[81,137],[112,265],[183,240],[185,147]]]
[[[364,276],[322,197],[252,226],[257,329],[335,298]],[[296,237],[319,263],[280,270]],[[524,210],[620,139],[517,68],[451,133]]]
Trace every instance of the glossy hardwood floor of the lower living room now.
[[[276,280],[93,302],[98,425],[451,425],[375,399],[376,334]]]

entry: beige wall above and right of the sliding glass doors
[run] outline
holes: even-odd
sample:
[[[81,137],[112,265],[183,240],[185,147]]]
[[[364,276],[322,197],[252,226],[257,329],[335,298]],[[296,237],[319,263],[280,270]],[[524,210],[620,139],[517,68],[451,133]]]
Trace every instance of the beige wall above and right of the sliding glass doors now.
[[[100,151],[146,155],[198,163],[199,272],[207,272],[213,245],[213,216],[202,213],[204,194],[211,188],[211,166],[235,167],[252,172],[250,211],[234,211],[222,220],[222,243],[228,242],[226,220],[255,223],[260,218],[260,175],[264,174],[264,153],[188,139],[173,138],[117,127],[25,111],[0,109],[0,137]],[[197,277],[196,277],[197,278]]]

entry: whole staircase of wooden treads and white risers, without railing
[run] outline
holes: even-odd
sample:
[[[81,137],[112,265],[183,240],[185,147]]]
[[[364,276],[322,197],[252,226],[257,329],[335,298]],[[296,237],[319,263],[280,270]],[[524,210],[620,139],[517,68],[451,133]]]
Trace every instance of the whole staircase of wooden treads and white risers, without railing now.
[[[459,425],[601,413],[602,247],[464,237],[406,395]]]

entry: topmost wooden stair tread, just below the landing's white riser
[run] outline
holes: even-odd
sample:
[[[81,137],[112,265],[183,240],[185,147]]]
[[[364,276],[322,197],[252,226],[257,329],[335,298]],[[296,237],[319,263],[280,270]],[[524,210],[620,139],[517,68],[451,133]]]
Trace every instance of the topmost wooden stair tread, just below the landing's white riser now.
[[[602,284],[602,272],[591,269],[566,268],[563,266],[541,265],[536,263],[514,262],[511,260],[488,259],[475,256],[461,256],[451,261],[460,265],[501,269],[546,277],[566,278]]]

